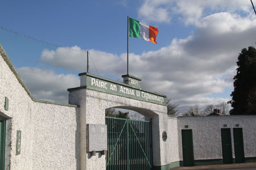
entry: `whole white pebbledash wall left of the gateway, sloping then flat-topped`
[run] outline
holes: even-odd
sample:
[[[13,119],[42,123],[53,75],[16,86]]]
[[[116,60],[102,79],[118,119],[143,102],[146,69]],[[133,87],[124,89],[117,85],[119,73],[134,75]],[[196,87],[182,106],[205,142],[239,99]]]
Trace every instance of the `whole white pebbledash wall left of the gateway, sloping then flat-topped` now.
[[[0,45],[0,116],[11,120],[6,169],[79,169],[77,107],[34,100]],[[39,75],[40,76],[40,75]],[[5,97],[9,109],[5,110]],[[16,131],[21,131],[16,155]]]

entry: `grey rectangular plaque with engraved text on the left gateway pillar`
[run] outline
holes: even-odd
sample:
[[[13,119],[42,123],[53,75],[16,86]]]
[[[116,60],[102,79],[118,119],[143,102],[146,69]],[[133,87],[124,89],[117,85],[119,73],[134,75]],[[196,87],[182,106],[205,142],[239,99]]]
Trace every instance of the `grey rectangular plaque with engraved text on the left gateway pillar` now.
[[[87,151],[108,150],[107,125],[87,124]]]

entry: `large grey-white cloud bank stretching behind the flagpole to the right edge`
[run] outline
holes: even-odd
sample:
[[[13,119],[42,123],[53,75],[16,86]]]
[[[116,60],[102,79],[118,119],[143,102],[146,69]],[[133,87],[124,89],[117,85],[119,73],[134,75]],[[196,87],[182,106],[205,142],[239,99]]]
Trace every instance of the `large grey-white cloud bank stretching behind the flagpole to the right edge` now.
[[[229,94],[224,98],[207,96],[233,87],[238,54],[242,48],[254,45],[255,35],[256,19],[250,16],[228,12],[212,14],[200,19],[193,35],[186,39],[174,39],[166,47],[141,55],[130,53],[130,74],[142,78],[144,89],[165,94],[180,104],[181,112],[194,104],[204,107],[228,101]],[[78,46],[72,48],[76,50],[46,49],[40,61],[53,67],[84,72],[86,53]],[[126,73],[126,53],[117,56],[94,49],[89,52],[101,76],[120,80]],[[96,73],[92,61],[90,67]],[[77,78],[74,79],[77,82]],[[76,87],[70,83],[67,86],[65,89]]]

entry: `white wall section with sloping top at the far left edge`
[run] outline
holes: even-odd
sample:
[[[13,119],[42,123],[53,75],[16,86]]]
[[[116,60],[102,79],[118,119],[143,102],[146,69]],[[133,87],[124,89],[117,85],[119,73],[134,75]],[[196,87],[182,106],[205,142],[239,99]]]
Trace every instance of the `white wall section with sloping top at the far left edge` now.
[[[31,103],[26,90],[16,79],[13,71],[0,56],[0,112],[11,120],[11,169],[32,169],[32,125]],[[5,110],[5,97],[9,99],[9,110]],[[16,131],[22,131],[20,155],[16,155]]]

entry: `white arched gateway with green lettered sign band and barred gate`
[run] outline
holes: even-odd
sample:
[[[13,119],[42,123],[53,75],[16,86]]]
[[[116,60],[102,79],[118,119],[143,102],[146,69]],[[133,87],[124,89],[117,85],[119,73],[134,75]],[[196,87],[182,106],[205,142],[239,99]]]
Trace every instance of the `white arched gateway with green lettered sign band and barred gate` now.
[[[69,104],[79,105],[80,169],[103,170],[106,169],[106,166],[109,166],[110,163],[115,161],[123,161],[118,164],[119,166],[126,164],[126,168],[124,167],[123,169],[135,169],[128,167],[128,163],[131,164],[133,162],[134,167],[135,165],[142,164],[146,169],[152,168],[153,165],[155,167],[164,163],[165,160],[163,159],[163,154],[161,155],[160,144],[162,143],[162,146],[166,145],[160,141],[159,136],[160,131],[163,131],[163,128],[167,126],[167,124],[163,123],[164,118],[167,117],[166,96],[142,90],[139,85],[133,86],[133,84],[129,84],[131,81],[125,84],[89,73],[79,75],[81,76],[80,87],[71,88],[68,91]],[[133,77],[129,75],[128,80],[132,78]],[[107,108],[130,109],[141,113],[145,116],[144,123],[148,125],[144,126],[140,121],[120,120],[117,123],[117,119],[113,121],[106,120],[105,109]],[[123,151],[124,154],[122,154],[121,159],[117,160],[119,154],[113,157],[114,159],[110,158],[112,157],[110,156],[110,159],[107,158],[109,163],[106,162],[108,155],[102,154],[100,147],[96,148],[94,151],[88,149],[88,141],[92,138],[86,135],[89,129],[87,129],[87,126],[95,125],[100,127],[106,123],[107,126],[105,127],[110,127],[109,129],[113,130],[113,132],[109,133],[109,135],[111,134],[111,138],[109,139],[112,140],[110,142],[112,142],[111,147],[113,148],[110,148],[110,150],[113,150],[109,151],[110,155],[113,155],[115,152],[119,153],[119,151],[125,150],[126,147],[126,151]],[[144,132],[144,130],[146,131]],[[147,138],[142,137],[142,134],[146,135]],[[106,140],[97,135],[96,137],[97,141],[94,140],[92,142],[101,143],[101,141]],[[115,143],[114,138],[116,138]],[[140,141],[140,139],[142,140]],[[126,143],[119,144],[118,142],[121,141]],[[106,144],[108,145],[108,142],[106,142]],[[131,150],[127,151],[128,147],[132,148],[135,152],[131,152]],[[152,154],[150,155],[150,153]],[[132,158],[132,155],[135,157]]]

